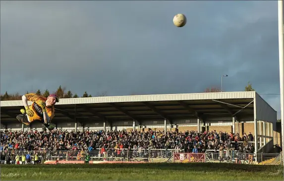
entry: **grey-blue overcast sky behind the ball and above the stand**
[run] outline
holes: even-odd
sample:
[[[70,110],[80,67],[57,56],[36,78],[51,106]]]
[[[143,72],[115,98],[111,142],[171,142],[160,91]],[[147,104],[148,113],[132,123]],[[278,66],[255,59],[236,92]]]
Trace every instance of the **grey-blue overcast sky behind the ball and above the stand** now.
[[[192,93],[224,74],[225,91],[280,92],[276,0],[0,3],[1,93]]]

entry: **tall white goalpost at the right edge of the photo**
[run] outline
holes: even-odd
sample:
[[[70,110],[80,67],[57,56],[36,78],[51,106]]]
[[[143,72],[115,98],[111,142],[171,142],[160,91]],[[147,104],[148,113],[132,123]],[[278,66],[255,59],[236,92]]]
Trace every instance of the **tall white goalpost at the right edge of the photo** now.
[[[279,74],[280,74],[280,103],[282,149],[284,149],[284,22],[283,0],[278,0],[278,37],[279,37]],[[283,159],[284,164],[284,159]]]

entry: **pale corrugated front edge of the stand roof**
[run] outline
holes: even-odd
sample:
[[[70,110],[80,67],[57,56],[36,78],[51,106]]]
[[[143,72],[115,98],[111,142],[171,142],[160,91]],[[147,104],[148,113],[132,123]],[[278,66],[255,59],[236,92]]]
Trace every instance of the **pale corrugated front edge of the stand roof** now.
[[[158,95],[128,95],[87,98],[60,99],[59,104],[88,104],[106,102],[140,102],[140,101],[171,101],[171,100],[202,100],[202,99],[235,99],[254,98],[255,91],[246,92],[214,92],[214,93],[182,93]],[[31,103],[31,102],[29,102]],[[1,101],[1,107],[22,106],[21,100]]]

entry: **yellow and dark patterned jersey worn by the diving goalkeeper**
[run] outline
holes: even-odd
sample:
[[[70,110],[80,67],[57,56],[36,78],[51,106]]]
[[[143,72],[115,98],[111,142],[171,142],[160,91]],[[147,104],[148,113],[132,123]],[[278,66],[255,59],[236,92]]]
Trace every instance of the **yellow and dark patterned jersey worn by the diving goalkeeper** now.
[[[29,116],[29,120],[30,122],[33,121],[41,121],[42,123],[44,123],[44,115],[43,115],[43,108],[42,106],[38,103],[38,101],[46,101],[47,98],[37,95],[35,93],[27,93],[25,94],[25,96],[27,97],[27,99],[29,101],[32,101],[32,105],[29,106],[29,108],[31,110],[34,111],[34,115],[32,117]],[[50,117],[50,120],[52,120],[54,118],[54,106],[52,107],[46,107],[47,110],[47,114]]]

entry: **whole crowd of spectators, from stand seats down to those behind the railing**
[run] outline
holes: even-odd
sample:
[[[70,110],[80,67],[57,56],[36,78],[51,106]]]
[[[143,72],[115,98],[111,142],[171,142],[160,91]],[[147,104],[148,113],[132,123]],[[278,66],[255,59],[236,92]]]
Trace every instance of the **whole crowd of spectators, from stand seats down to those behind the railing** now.
[[[255,150],[249,141],[253,141],[251,133],[240,136],[238,133],[216,131],[198,133],[152,131],[1,131],[1,160],[16,160],[17,155],[39,155],[42,159],[50,153],[63,155],[64,158],[81,160],[88,152],[90,156],[106,157],[143,157],[147,158],[149,150],[165,150],[163,153],[152,152],[154,157],[168,158],[173,152],[205,153],[209,158],[222,159],[223,153],[234,155],[232,151],[253,153]],[[65,156],[64,156],[65,155]],[[227,157],[227,156],[226,156]],[[63,158],[63,159],[64,159]],[[50,159],[50,158],[49,158]]]

